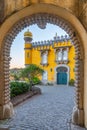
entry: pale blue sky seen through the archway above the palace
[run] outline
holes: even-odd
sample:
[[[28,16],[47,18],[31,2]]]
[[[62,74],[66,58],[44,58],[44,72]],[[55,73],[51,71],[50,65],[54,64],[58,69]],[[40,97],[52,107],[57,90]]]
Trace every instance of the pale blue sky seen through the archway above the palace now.
[[[32,25],[22,30],[12,43],[10,68],[24,67],[24,32],[29,29],[33,34],[33,42],[41,40],[51,40],[57,33],[58,36],[66,35],[60,27],[47,24],[46,29],[40,29],[37,25]]]

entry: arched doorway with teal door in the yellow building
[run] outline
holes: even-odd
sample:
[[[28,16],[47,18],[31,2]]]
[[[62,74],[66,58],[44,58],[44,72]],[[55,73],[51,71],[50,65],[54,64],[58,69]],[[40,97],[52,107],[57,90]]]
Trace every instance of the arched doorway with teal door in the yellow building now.
[[[68,85],[69,68],[66,65],[59,65],[56,68],[56,83],[58,85]]]

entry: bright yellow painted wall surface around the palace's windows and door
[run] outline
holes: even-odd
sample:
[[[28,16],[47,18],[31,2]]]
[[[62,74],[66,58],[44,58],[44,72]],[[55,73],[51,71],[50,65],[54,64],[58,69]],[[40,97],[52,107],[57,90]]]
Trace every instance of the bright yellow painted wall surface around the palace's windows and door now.
[[[27,47],[28,45],[26,45]],[[68,52],[68,64],[66,64],[69,68],[70,68],[70,79],[75,79],[75,73],[74,73],[74,67],[75,67],[75,50],[74,50],[74,46],[71,44],[70,41],[68,42],[62,42],[62,43],[54,43],[54,48],[58,48],[58,47],[69,47],[69,52]],[[43,66],[41,65],[41,50],[45,50],[46,47],[36,47],[36,48],[32,48],[32,51],[30,50],[26,50],[25,53],[31,53],[32,57],[30,57],[31,59],[29,60],[28,58],[25,58],[25,63],[32,63],[32,64],[36,64],[38,66],[40,66],[41,68],[43,68],[45,71],[47,71],[48,73],[48,81],[55,81],[55,68],[59,65],[55,62],[55,50],[52,46],[49,47],[48,50],[48,65]],[[62,64],[61,64],[62,65]],[[42,77],[40,77],[40,79],[42,79]]]

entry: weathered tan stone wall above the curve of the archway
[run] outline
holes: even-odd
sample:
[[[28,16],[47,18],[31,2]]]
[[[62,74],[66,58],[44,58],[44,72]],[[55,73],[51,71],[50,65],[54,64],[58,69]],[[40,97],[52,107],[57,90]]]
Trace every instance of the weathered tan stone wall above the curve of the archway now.
[[[0,23],[13,13],[37,3],[50,3],[68,10],[87,30],[87,0],[0,0]]]

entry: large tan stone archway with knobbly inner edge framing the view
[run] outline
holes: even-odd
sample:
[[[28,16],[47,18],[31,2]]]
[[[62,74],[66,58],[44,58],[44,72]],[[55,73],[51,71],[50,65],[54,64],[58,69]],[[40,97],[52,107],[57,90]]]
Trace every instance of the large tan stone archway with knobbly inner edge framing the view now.
[[[26,7],[10,16],[0,27],[0,119],[13,115],[9,96],[9,64],[12,41],[23,28],[32,24],[45,28],[47,23],[58,25],[64,29],[75,46],[76,105],[72,114],[72,122],[87,127],[87,35],[74,15],[51,4],[35,4]]]

